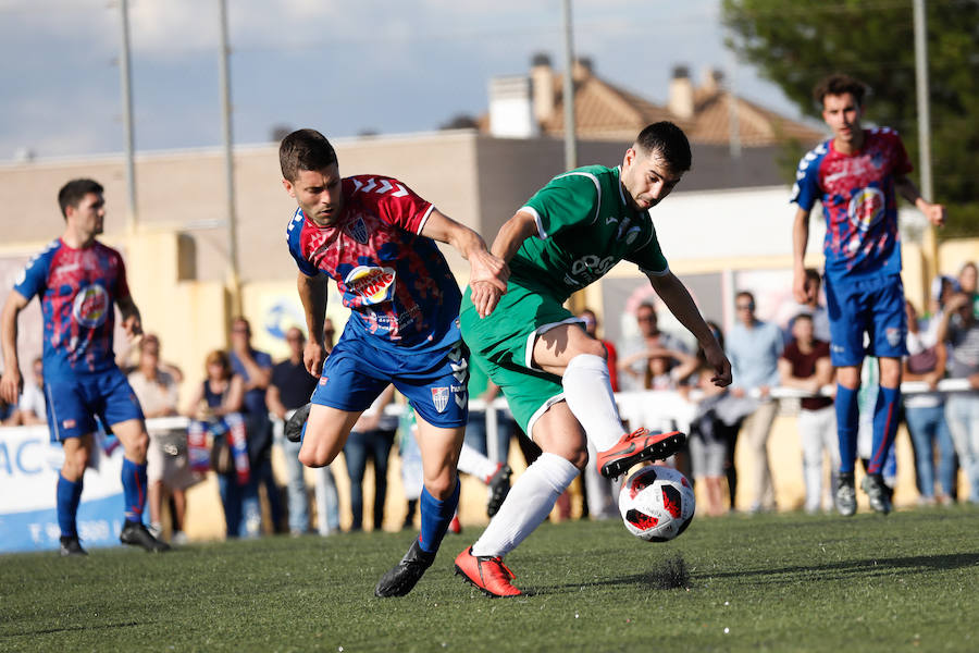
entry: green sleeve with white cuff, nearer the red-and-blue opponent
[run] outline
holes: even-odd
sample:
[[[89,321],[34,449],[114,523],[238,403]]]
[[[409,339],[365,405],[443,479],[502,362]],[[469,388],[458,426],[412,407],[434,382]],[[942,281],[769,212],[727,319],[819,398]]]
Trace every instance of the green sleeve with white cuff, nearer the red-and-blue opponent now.
[[[602,185],[598,178],[582,171],[556,176],[537,190],[522,210],[533,213],[537,237],[549,238],[575,224],[591,224],[598,218]]]

